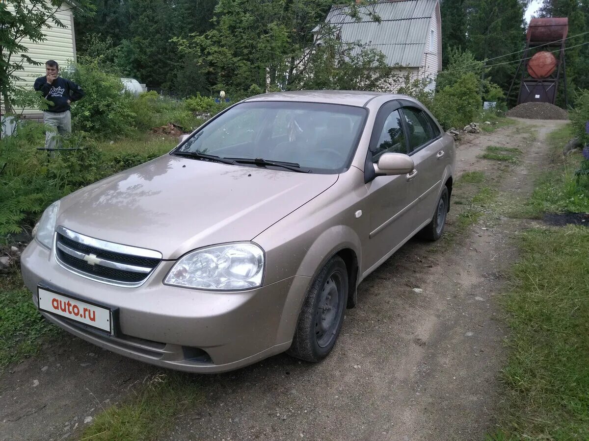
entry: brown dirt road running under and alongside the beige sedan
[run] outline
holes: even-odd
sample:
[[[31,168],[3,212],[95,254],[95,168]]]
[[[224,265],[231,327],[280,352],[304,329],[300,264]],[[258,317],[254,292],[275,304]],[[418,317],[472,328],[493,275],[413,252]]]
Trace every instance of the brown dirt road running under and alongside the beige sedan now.
[[[206,400],[177,418],[169,438],[474,440],[492,431],[507,332],[495,295],[525,224],[505,214],[531,192],[531,174],[548,161],[545,135],[562,123],[518,121],[462,143],[457,175],[483,171],[497,188],[487,215],[458,234],[464,206],[453,205],[454,235],[411,240],[370,275],[324,362],[279,355],[237,372],[186,375]],[[519,148],[522,160],[478,158],[488,145]],[[456,186],[456,199],[469,191]],[[150,372],[65,336],[0,378],[0,439],[75,438],[87,417]]]

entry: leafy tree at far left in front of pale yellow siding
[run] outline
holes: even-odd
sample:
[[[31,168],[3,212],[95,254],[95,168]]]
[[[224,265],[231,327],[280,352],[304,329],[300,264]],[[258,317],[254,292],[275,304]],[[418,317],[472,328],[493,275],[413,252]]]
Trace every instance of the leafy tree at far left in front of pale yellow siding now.
[[[61,4],[61,0],[5,0],[0,3],[0,96],[5,113],[12,113],[15,105],[23,101],[31,101],[31,93],[15,85],[25,62],[40,64],[27,55],[24,39],[43,42],[47,40],[47,29],[64,28],[57,17]],[[78,11],[91,10],[85,0],[72,2],[71,7]]]

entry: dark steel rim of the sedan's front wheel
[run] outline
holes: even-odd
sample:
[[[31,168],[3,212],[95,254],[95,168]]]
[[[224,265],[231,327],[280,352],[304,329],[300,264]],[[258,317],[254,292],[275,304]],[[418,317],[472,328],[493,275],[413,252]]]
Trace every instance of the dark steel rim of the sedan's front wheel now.
[[[341,295],[342,276],[339,272],[334,272],[323,285],[315,312],[315,338],[320,348],[326,348],[335,339]]]

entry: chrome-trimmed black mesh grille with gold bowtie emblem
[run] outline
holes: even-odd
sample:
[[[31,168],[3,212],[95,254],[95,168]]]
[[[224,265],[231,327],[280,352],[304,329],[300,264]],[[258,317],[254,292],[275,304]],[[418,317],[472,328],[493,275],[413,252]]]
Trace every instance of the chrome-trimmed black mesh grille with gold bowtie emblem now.
[[[59,226],[55,258],[65,269],[86,278],[134,287],[145,282],[162,256],[154,250],[94,239]]]

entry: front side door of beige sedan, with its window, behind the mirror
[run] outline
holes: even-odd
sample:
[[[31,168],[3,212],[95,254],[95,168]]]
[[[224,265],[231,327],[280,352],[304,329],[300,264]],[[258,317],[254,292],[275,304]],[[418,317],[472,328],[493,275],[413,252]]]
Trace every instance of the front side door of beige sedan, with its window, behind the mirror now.
[[[363,247],[363,259],[368,271],[388,258],[413,229],[407,216],[408,175],[373,176],[374,164],[383,153],[408,152],[400,107],[399,102],[392,101],[380,108],[366,158],[365,207],[370,216],[370,233]]]

